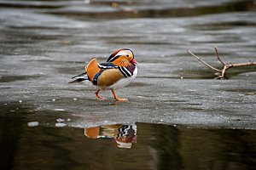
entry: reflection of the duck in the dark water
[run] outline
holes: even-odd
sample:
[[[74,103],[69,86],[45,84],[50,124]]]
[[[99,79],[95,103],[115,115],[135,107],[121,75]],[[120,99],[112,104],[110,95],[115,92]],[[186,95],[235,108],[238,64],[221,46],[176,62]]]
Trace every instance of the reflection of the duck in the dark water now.
[[[137,143],[137,126],[132,125],[103,125],[100,127],[84,128],[84,135],[91,139],[114,139],[119,148],[130,149]]]

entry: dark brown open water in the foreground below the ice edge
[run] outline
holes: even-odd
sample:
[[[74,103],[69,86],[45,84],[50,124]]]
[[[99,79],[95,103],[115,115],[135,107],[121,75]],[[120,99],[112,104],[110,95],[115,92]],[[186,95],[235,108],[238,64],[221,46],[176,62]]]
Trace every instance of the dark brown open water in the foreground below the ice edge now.
[[[90,127],[85,133],[84,128],[1,122],[2,169],[255,169],[254,130],[141,122],[130,125],[130,140],[117,144],[127,127]]]

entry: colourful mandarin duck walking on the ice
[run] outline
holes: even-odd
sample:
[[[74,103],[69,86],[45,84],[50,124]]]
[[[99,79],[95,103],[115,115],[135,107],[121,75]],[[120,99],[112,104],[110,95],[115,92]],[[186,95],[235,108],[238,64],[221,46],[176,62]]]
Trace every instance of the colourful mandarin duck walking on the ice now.
[[[85,72],[73,77],[73,82],[90,81],[96,86],[96,98],[105,99],[99,95],[100,90],[111,90],[113,98],[117,101],[128,100],[119,99],[114,90],[123,88],[134,80],[137,76],[137,61],[131,49],[119,49],[111,54],[107,62],[97,63],[92,59],[85,66]]]

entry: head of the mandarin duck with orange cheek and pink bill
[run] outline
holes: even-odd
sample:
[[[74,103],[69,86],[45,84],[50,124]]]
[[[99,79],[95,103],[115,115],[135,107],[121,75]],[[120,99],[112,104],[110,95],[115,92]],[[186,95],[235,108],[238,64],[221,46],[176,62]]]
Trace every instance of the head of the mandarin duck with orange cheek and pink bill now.
[[[137,64],[137,61],[134,59],[134,54],[131,49],[119,49],[108,57],[107,62],[112,62],[115,65],[119,66],[128,66],[132,64]]]

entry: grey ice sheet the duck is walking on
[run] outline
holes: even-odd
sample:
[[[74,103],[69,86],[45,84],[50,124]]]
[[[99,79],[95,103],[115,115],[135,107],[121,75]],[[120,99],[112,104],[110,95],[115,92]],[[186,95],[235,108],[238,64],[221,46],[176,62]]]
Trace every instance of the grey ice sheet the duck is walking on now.
[[[30,118],[52,124],[69,117],[73,127],[156,122],[255,129],[255,67],[213,80],[214,72],[186,53],[189,48],[217,66],[213,46],[226,62],[255,59],[252,2],[135,1],[113,8],[109,2],[42,1],[40,8],[1,1],[0,100],[20,103],[8,112],[25,107]],[[84,71],[84,62],[104,62],[118,48],[131,48],[140,63],[135,81],[117,91],[128,102],[114,102],[110,91],[98,101],[89,85],[67,83]]]

